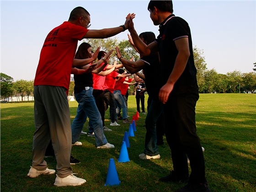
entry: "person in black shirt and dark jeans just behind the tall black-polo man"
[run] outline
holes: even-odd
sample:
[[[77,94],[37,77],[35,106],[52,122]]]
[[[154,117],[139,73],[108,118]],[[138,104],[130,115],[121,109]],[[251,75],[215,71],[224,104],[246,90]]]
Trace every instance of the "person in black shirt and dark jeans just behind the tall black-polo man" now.
[[[140,38],[144,43],[149,44],[155,40],[155,34],[153,32],[143,32],[140,34]],[[130,43],[133,45],[132,39],[129,38]],[[150,56],[142,57],[139,61],[133,62],[127,59],[123,59],[119,48],[117,50],[117,58],[122,62],[123,66],[131,73],[137,73],[141,69],[144,70],[144,80],[147,86],[147,92],[149,97],[152,98],[151,105],[148,110],[148,114],[145,120],[146,124],[146,136],[145,136],[145,148],[144,153],[139,155],[140,159],[159,159],[159,151],[156,135],[156,121],[162,113],[160,101],[158,99],[158,93],[162,86],[160,68],[159,68],[159,56],[158,53]],[[135,75],[134,75],[135,76]],[[136,86],[136,85],[135,85]],[[138,93],[137,93],[138,94]],[[136,95],[137,95],[136,94]]]

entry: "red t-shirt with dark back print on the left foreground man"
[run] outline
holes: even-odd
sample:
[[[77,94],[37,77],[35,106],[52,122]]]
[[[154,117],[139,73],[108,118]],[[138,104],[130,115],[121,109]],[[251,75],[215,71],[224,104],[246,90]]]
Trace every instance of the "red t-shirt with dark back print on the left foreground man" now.
[[[40,53],[34,85],[61,86],[68,90],[77,42],[88,31],[65,21],[49,32]]]

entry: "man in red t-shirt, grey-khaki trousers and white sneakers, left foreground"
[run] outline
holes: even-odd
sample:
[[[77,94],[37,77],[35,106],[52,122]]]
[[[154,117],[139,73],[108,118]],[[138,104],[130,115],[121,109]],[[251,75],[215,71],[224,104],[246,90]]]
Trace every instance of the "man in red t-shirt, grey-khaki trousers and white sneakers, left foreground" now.
[[[89,64],[96,58],[73,62],[77,43],[83,38],[112,37],[128,29],[128,14],[124,25],[101,30],[88,30],[91,18],[83,7],[71,11],[69,21],[55,27],[46,37],[40,53],[34,80],[34,117],[36,131],[33,136],[33,160],[27,176],[37,177],[41,174],[54,174],[55,170],[47,168],[44,160],[46,148],[52,139],[57,160],[57,174],[54,185],[77,186],[85,183],[84,179],[72,174],[70,166],[71,128],[69,103],[66,90],[72,67]],[[97,55],[96,55],[97,56]],[[93,60],[94,59],[94,60]]]

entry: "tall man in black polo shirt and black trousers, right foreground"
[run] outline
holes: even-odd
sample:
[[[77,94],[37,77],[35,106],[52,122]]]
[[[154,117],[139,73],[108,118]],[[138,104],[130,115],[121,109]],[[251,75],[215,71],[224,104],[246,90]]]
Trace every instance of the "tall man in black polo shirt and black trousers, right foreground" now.
[[[160,25],[155,42],[144,44],[133,27],[129,32],[143,56],[159,51],[165,85],[159,92],[165,116],[165,135],[171,148],[173,171],[161,181],[188,184],[177,192],[210,192],[205,179],[203,151],[197,136],[195,106],[199,98],[190,28],[185,20],[173,15],[172,1],[151,0],[148,5],[154,25]],[[189,177],[187,156],[190,160]]]

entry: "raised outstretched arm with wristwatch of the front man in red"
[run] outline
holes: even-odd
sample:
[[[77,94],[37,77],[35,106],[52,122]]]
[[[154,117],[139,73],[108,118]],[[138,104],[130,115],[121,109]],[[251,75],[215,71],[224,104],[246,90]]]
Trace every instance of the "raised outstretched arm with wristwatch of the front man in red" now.
[[[131,18],[133,19],[134,17],[135,17],[134,13],[132,13],[132,14],[129,13],[127,15],[126,20],[123,25],[125,30],[128,29],[128,27],[129,27],[130,19]],[[92,30],[89,30],[83,38],[97,39],[97,38],[113,37],[113,36],[117,35],[118,33],[125,31],[124,28],[122,26],[119,26],[119,27],[100,29],[100,30],[92,29]]]

